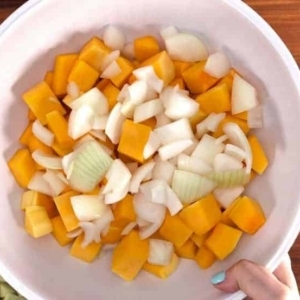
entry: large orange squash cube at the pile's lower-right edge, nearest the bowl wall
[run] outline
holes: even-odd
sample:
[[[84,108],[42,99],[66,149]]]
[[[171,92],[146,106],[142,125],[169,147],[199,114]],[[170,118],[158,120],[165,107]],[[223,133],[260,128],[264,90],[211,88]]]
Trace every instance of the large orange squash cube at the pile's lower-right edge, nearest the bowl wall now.
[[[238,199],[230,210],[228,218],[248,234],[256,233],[266,223],[266,217],[260,204],[246,196]]]

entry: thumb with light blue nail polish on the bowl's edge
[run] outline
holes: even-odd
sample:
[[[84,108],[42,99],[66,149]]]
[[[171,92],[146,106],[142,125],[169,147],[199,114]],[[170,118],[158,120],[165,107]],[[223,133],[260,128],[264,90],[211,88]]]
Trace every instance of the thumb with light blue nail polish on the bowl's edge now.
[[[213,277],[216,288],[227,293],[242,290],[254,300],[288,299],[289,288],[266,268],[247,260],[241,260]]]

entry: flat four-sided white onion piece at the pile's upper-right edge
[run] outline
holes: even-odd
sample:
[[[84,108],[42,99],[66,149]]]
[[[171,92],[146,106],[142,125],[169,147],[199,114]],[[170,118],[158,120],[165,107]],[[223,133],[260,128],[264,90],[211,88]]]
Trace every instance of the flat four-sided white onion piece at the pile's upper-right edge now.
[[[248,111],[258,105],[256,89],[237,74],[233,79],[231,105],[233,115]]]

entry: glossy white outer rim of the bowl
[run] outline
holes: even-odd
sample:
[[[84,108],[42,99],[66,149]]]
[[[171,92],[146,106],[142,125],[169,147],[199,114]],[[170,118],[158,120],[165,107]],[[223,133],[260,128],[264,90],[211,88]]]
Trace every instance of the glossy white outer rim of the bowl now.
[[[38,4],[44,4],[49,0],[28,0],[17,10],[15,10],[1,25],[0,25],[0,42],[1,37],[5,34],[6,31],[10,29],[12,25],[18,22],[29,10],[33,9]],[[284,65],[287,68],[288,73],[291,76],[291,80],[294,83],[296,90],[298,91],[300,99],[300,70],[297,62],[295,61],[290,50],[287,48],[286,44],[275,32],[275,30],[248,4],[240,0],[220,0],[225,4],[231,6],[234,10],[238,11],[243,15],[253,26],[255,26],[260,33],[269,41],[275,51],[278,53],[280,58],[283,60]],[[266,264],[266,268],[270,271],[274,271],[284,256],[288,253],[290,248],[293,246],[297,236],[300,232],[300,209],[298,210],[294,222],[285,236],[281,246],[278,248],[276,253],[271,257],[270,261]],[[26,287],[22,281],[15,277],[12,272],[5,266],[5,264],[0,259],[0,271],[1,276],[9,282],[18,292],[20,292],[24,297],[33,300],[43,300],[41,296],[36,294],[34,291]],[[229,295],[226,300],[240,300],[243,299],[246,295],[242,292],[236,292],[232,295]]]

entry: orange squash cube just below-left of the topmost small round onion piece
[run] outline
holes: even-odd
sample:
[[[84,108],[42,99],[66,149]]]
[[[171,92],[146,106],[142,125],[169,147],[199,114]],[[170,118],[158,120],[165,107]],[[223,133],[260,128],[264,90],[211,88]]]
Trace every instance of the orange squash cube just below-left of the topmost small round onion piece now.
[[[105,46],[103,41],[94,37],[82,48],[79,59],[100,72],[103,61],[110,52],[111,50]]]

